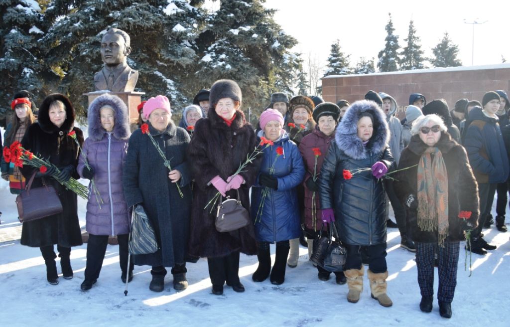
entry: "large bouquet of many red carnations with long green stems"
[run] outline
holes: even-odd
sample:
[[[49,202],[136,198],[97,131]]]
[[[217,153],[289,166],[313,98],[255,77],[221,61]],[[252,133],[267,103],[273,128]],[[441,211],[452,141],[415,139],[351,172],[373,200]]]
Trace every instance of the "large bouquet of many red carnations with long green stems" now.
[[[4,160],[6,162],[13,162],[16,167],[23,167],[23,164],[39,169],[40,172],[45,172],[47,167],[54,167],[56,173],[52,176],[57,182],[64,185],[67,189],[73,191],[78,196],[88,199],[89,192],[87,187],[72,177],[68,181],[63,181],[57,176],[60,170],[48,159],[41,159],[35,156],[33,153],[21,146],[21,143],[15,141],[10,147],[6,146],[3,149]]]

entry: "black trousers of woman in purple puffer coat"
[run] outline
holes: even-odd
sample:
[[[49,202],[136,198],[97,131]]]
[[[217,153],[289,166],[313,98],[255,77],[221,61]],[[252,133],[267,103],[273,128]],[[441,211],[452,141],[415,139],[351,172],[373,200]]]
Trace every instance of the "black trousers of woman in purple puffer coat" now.
[[[108,235],[89,234],[87,242],[87,266],[85,268],[85,280],[93,281],[99,278],[103,260],[105,259],[106,247],[108,246]],[[122,275],[126,275],[127,256],[129,255],[128,241],[129,234],[117,235],[119,242],[119,264]],[[130,271],[133,271],[133,258],[130,262]]]

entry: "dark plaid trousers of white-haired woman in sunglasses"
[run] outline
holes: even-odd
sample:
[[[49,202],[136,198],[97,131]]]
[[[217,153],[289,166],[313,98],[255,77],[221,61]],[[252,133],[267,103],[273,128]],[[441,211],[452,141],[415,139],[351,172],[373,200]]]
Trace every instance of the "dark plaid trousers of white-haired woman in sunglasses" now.
[[[421,296],[434,295],[434,248],[436,243],[416,244],[416,266]],[[439,289],[438,300],[451,303],[457,286],[459,242],[444,243],[439,246]]]

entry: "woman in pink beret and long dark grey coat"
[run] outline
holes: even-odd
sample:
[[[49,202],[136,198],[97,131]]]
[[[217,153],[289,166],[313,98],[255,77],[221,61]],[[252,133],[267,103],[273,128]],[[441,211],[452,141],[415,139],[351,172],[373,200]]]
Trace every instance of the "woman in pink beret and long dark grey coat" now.
[[[185,257],[192,196],[187,161],[190,137],[170,119],[166,96],[148,99],[143,112],[148,118],[147,133],[154,137],[172,170],[168,171],[149,136],[143,134],[144,125],[133,132],[122,177],[126,203],[129,207],[143,206],[160,247],[153,254],[134,256],[134,261],[136,265],[152,266],[150,290],[163,291],[165,267],[172,267],[173,288],[183,290],[188,286]],[[180,186],[183,197],[176,185]]]

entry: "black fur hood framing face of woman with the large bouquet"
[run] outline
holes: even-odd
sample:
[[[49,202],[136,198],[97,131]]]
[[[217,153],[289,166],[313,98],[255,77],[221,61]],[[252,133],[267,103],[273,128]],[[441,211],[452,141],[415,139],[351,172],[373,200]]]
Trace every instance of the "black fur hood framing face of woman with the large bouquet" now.
[[[57,127],[51,120],[49,120],[49,106],[57,100],[62,101],[66,112],[66,119],[61,127]],[[61,93],[53,93],[46,96],[44,100],[42,100],[37,120],[41,129],[46,133],[63,132],[67,134],[72,130],[74,126],[74,117],[74,108],[67,96]]]

